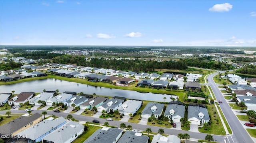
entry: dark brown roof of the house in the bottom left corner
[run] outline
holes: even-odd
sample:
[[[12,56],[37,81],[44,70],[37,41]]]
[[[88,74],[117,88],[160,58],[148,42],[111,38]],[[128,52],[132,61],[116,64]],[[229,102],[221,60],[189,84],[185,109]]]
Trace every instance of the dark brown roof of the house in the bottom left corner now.
[[[32,121],[41,118],[42,116],[38,113],[33,114],[32,116],[20,116],[2,126],[0,126],[0,134],[1,135],[11,135],[15,131],[21,129],[22,127],[25,127]]]

